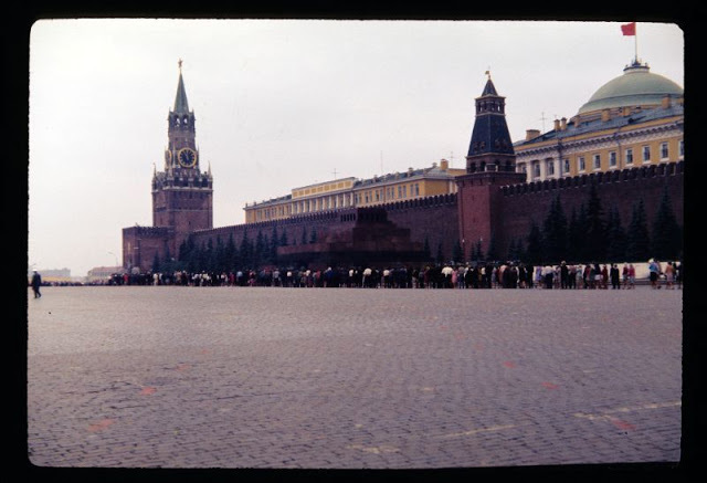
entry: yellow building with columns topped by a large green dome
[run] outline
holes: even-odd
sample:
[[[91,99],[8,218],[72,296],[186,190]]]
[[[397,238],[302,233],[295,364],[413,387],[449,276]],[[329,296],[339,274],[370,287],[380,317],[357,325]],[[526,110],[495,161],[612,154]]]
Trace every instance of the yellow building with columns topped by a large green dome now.
[[[528,129],[515,143],[516,169],[528,181],[684,159],[684,91],[633,62],[552,130]]]

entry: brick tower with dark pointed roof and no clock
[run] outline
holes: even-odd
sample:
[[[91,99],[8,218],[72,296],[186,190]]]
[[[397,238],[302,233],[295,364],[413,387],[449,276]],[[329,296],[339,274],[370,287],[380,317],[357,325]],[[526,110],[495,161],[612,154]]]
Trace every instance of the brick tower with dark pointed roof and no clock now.
[[[516,155],[506,125],[506,98],[488,80],[476,97],[476,117],[466,156],[466,175],[456,178],[458,188],[460,243],[464,260],[481,251],[505,253],[500,188],[525,181],[516,172]]]

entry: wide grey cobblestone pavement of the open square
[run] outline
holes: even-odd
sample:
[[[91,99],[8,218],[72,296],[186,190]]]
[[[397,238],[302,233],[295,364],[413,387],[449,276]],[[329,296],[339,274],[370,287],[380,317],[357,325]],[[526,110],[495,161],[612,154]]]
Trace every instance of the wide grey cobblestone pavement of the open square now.
[[[677,462],[682,292],[48,287],[39,466]]]

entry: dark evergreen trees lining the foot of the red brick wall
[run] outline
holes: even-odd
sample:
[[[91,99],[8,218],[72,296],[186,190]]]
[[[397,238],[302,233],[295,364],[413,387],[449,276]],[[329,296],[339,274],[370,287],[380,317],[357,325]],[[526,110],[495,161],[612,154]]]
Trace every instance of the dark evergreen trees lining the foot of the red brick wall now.
[[[188,271],[190,273],[222,273],[244,269],[258,269],[271,265],[278,266],[277,249],[293,244],[317,242],[317,231],[305,230],[299,240],[287,239],[285,230],[277,232],[274,225],[270,234],[258,229],[256,235],[243,234],[240,243],[235,243],[233,234],[228,240],[217,237],[205,243],[196,244],[189,237],[179,246],[175,258],[166,251],[162,258],[155,255],[152,272]],[[606,211],[591,187],[589,199],[572,208],[568,214],[557,195],[548,209],[541,224],[535,220],[526,235],[511,238],[509,246],[502,252],[492,234],[487,248],[481,242],[472,246],[468,260],[464,260],[463,250],[457,240],[451,260],[447,260],[439,244],[432,253],[429,237],[424,240],[424,259],[432,264],[478,263],[500,260],[520,261],[529,265],[559,264],[561,261],[587,263],[622,263],[625,261],[679,260],[682,258],[683,228],[678,224],[667,188],[663,191],[653,223],[648,218],[643,199],[633,202],[631,219],[621,220],[619,210],[612,206]]]

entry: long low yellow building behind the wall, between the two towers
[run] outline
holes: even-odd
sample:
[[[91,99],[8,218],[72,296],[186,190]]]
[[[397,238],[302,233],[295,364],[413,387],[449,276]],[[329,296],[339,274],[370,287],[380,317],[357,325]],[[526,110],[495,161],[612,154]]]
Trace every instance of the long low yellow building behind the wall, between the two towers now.
[[[450,168],[446,159],[430,168],[408,169],[369,179],[342,178],[294,188],[289,195],[246,204],[245,222],[279,220],[340,208],[371,207],[456,192],[454,178],[465,169]]]

